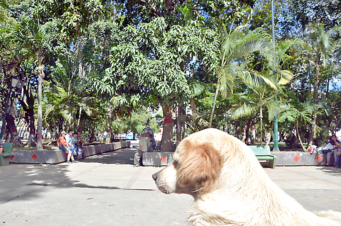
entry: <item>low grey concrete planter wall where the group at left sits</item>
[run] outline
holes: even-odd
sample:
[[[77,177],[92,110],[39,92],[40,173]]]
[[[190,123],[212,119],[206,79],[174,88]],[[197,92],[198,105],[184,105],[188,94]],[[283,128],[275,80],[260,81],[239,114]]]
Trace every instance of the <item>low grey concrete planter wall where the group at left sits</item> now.
[[[109,152],[118,150],[124,147],[129,147],[130,142],[116,142],[110,144],[97,144],[84,146],[83,156],[88,157],[103,152]],[[12,150],[14,156],[12,156],[11,163],[62,163],[66,161],[67,154],[62,150]]]

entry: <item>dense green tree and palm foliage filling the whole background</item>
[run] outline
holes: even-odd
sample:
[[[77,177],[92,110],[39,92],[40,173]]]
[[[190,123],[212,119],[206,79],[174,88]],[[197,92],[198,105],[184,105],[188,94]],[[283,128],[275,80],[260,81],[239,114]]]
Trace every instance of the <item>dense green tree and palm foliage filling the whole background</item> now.
[[[184,136],[206,128],[210,114],[212,127],[238,138],[252,125],[259,134],[261,121],[269,131],[278,113],[290,142],[299,142],[296,130],[308,142],[316,126],[323,144],[341,128],[339,89],[329,90],[340,68],[338,6],[275,2],[274,50],[263,0],[0,2],[0,95],[9,77],[24,79],[16,119],[34,125],[42,71],[43,127],[52,133],[73,127],[91,139],[108,129],[137,132],[146,117],[156,132],[162,111],[155,121],[145,107],[183,102],[187,114],[177,119]]]

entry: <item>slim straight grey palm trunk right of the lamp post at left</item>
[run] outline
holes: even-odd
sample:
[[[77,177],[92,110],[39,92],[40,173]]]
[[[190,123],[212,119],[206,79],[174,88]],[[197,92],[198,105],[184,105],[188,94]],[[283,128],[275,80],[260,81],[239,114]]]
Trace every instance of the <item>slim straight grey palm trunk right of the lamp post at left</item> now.
[[[43,149],[43,111],[42,111],[42,83],[43,73],[41,68],[41,53],[38,50],[38,128],[37,128],[37,146],[36,150]]]

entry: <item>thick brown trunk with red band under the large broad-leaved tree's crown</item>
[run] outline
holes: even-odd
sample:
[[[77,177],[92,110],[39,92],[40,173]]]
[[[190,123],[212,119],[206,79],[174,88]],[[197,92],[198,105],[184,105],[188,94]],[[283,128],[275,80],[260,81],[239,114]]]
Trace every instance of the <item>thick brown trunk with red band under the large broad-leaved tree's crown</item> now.
[[[173,108],[162,106],[163,111],[163,133],[160,152],[174,152],[173,147]]]

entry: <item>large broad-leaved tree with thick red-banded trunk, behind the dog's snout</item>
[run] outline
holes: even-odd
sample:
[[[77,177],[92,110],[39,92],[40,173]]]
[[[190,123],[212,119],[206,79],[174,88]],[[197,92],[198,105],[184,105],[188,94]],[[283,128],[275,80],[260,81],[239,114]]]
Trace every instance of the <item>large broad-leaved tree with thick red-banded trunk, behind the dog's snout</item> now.
[[[129,114],[137,101],[160,104],[164,115],[161,149],[171,150],[173,105],[191,94],[185,72],[197,64],[212,65],[215,32],[199,19],[167,29],[165,19],[158,17],[139,28],[128,26],[125,35],[126,43],[112,48],[112,65],[107,70],[120,94],[116,112]]]

